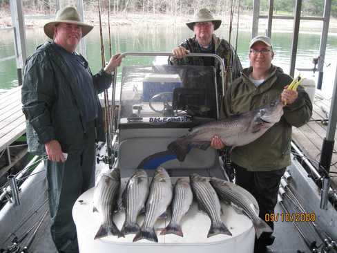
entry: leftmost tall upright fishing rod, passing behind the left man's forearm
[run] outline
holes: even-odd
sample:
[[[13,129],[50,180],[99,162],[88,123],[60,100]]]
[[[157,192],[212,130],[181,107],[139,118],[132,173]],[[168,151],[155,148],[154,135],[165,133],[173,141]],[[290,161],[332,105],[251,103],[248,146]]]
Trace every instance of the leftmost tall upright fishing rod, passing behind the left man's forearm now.
[[[103,32],[102,32],[102,18],[101,18],[101,0],[98,0],[98,15],[99,15],[99,35],[101,40],[101,57],[102,57],[102,68],[105,68],[105,55],[104,55],[104,41],[103,41]],[[106,131],[106,153],[108,154],[107,159],[104,159],[104,162],[108,163],[109,169],[112,169],[112,158],[111,158],[111,143],[110,143],[110,135],[108,130],[108,122],[110,122],[109,118],[109,106],[108,106],[108,91],[104,90],[104,115],[105,115],[105,122],[104,127]]]

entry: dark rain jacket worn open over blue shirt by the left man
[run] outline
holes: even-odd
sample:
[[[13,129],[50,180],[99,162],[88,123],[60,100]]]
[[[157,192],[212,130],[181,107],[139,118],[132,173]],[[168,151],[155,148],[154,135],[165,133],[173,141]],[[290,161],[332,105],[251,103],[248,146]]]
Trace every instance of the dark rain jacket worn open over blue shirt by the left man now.
[[[90,70],[89,70],[90,71]],[[112,75],[103,70],[93,76],[96,93],[110,86]],[[41,155],[44,144],[58,140],[62,151],[81,144],[86,133],[79,110],[77,79],[50,42],[41,45],[26,62],[23,74],[22,104],[26,115],[28,151]],[[104,140],[102,107],[97,96],[97,140]]]

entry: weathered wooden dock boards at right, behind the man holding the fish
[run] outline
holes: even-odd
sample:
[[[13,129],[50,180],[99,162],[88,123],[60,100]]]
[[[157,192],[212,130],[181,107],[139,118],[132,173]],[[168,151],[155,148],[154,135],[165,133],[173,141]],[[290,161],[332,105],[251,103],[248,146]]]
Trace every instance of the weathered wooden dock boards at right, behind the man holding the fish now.
[[[312,161],[313,165],[318,168],[320,153],[323,140],[327,134],[327,124],[329,118],[331,97],[323,97],[316,92],[313,113],[311,120],[304,126],[297,129],[293,127],[293,141],[302,150],[303,154]],[[337,134],[335,135],[334,153],[332,154],[330,174],[331,187],[337,189]]]

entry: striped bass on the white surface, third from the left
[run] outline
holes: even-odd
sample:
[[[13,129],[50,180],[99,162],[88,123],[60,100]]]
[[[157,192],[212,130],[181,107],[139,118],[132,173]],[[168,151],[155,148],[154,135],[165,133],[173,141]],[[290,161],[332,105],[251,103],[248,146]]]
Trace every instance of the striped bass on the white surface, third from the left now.
[[[155,234],[154,225],[162,214],[166,213],[168,205],[172,200],[172,183],[164,168],[155,170],[155,175],[152,178],[150,193],[146,201],[146,214],[144,223],[140,231],[136,234],[133,241],[147,239],[148,241],[158,242]]]

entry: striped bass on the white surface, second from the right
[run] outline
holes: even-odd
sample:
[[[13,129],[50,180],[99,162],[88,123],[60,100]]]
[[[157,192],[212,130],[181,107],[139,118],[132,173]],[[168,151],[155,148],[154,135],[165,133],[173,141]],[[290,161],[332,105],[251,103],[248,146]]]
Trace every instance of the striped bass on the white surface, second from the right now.
[[[211,186],[209,178],[199,176],[198,174],[192,174],[190,176],[190,182],[198,206],[202,211],[206,212],[211,219],[211,227],[207,237],[215,236],[215,234],[228,234],[231,236],[231,232],[221,221],[220,200]]]

